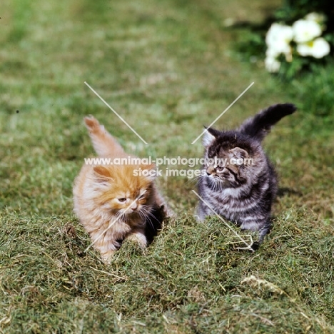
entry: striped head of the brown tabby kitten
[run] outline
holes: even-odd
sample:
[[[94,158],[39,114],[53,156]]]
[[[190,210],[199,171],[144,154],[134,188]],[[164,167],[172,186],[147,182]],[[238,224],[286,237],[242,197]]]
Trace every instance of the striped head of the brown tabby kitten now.
[[[209,132],[206,134],[203,141],[206,146],[204,168],[206,177],[213,183],[237,188],[247,182],[252,160],[250,153],[239,147],[236,139],[216,138]]]

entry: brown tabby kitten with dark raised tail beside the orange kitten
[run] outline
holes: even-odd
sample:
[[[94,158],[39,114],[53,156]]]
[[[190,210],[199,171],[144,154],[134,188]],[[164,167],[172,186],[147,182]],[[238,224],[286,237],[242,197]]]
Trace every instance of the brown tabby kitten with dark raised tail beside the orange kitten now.
[[[276,173],[260,143],[275,123],[295,109],[293,104],[275,104],[236,131],[208,128],[203,138],[204,158],[210,163],[204,166],[206,174],[198,182],[198,193],[220,216],[242,229],[259,231],[253,249],[270,231],[271,206],[277,193]],[[200,201],[200,220],[212,214]]]

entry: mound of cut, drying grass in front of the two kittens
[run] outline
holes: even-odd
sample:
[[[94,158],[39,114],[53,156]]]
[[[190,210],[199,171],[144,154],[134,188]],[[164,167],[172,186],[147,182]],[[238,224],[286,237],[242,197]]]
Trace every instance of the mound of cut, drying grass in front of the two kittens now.
[[[218,219],[179,218],[146,253],[126,241],[106,267],[95,251],[83,253],[89,238],[73,218],[27,222],[6,213],[0,308],[9,322],[2,329],[331,333],[323,316],[334,321],[333,228],[295,209],[275,225],[266,246],[247,253],[233,249],[236,238]]]

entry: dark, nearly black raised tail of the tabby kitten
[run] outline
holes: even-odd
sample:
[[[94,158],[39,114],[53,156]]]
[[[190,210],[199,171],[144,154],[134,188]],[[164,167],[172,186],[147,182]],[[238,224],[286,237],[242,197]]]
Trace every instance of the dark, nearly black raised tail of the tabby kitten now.
[[[295,105],[291,103],[274,104],[260,111],[254,117],[248,118],[241,124],[238,131],[258,141],[262,141],[275,123],[280,121],[284,116],[294,113],[296,109]]]

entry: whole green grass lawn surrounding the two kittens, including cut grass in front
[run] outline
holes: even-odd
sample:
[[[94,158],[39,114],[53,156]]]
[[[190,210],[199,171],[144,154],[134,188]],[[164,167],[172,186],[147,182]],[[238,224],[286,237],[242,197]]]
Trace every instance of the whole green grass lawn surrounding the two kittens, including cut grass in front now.
[[[260,21],[265,2],[1,3],[0,333],[333,333],[334,62],[289,83],[241,62],[244,31],[224,21]],[[71,203],[93,155],[83,116],[129,153],[200,157],[191,142],[253,81],[218,128],[298,106],[265,140],[280,196],[260,250],[234,250],[216,218],[196,223],[194,183],[163,177],[177,218],[146,252],[126,242],[109,266],[84,253]]]

